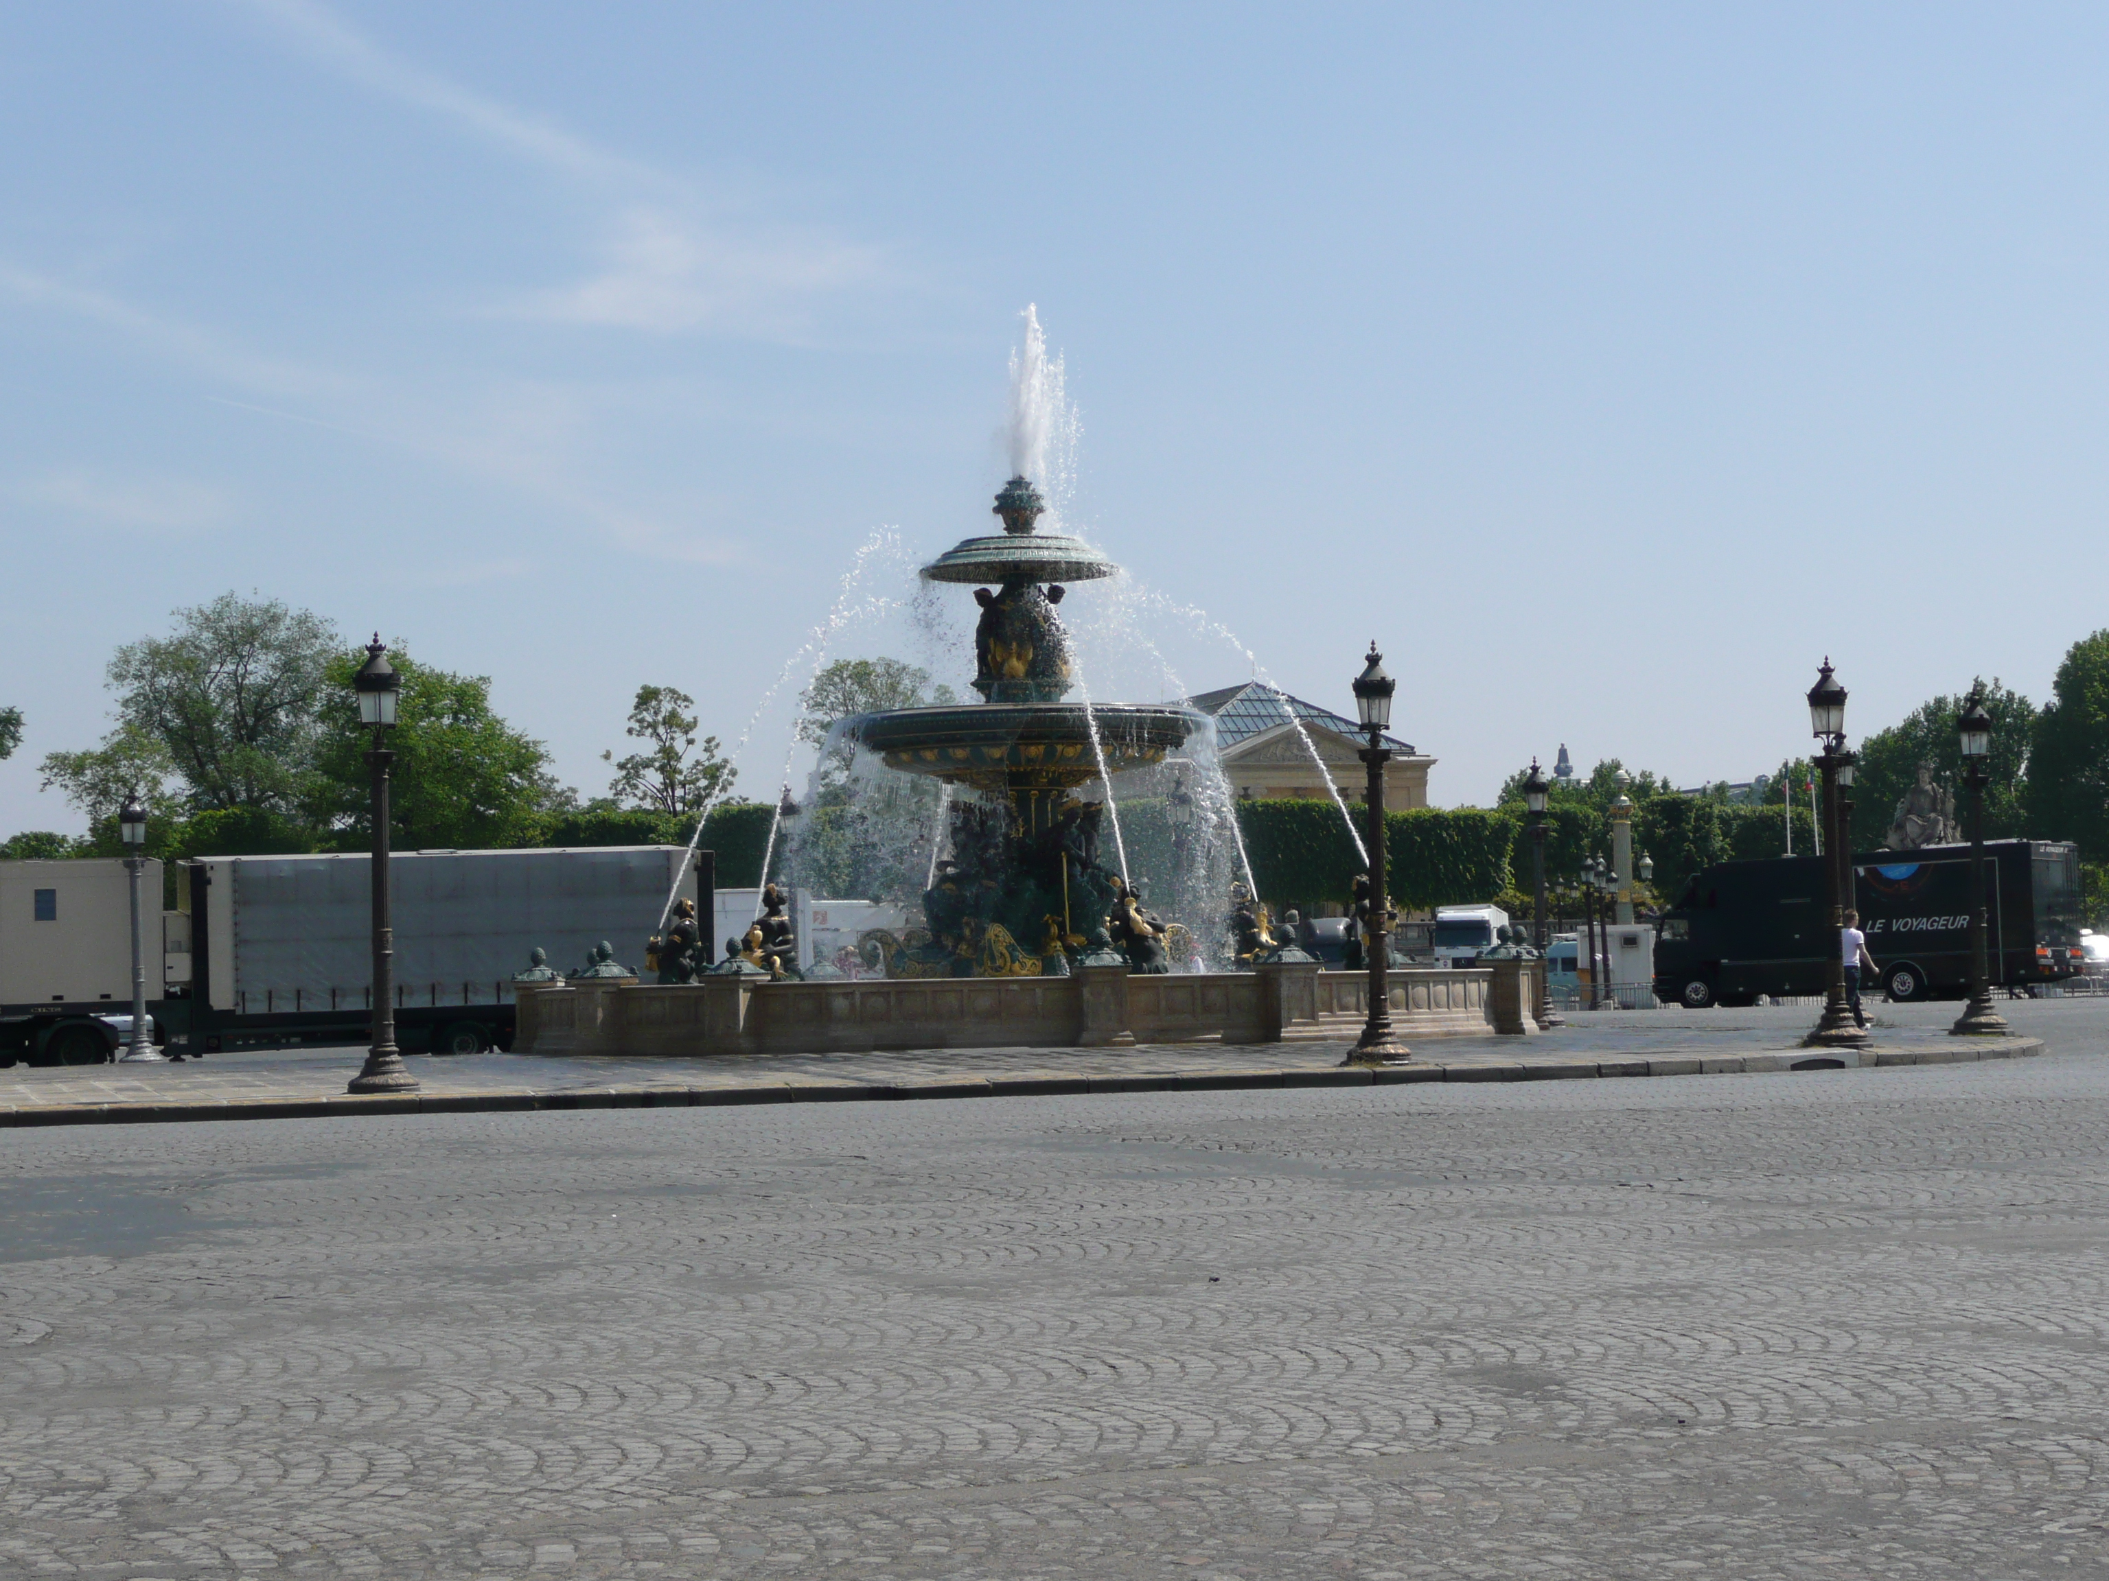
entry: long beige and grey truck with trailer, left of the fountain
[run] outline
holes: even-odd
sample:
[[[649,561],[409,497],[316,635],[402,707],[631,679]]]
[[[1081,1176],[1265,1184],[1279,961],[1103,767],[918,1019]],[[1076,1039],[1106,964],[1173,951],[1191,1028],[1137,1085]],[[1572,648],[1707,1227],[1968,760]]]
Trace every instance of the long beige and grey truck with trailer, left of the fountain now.
[[[399,1046],[508,1048],[512,974],[534,949],[565,972],[607,940],[641,970],[677,879],[694,900],[696,864],[679,845],[390,858]],[[0,862],[0,1065],[101,1060],[118,1022],[129,1029],[124,883],[120,860]],[[209,856],[177,873],[171,913],[160,862],[143,887],[150,1014],[169,1054],[371,1035],[369,856]]]

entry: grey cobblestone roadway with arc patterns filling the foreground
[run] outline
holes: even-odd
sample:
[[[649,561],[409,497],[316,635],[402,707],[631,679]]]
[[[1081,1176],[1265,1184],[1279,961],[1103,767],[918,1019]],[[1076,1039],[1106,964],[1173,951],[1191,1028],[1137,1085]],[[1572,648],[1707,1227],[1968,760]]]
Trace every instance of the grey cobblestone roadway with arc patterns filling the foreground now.
[[[0,1136],[0,1575],[2109,1575],[2109,1062]]]

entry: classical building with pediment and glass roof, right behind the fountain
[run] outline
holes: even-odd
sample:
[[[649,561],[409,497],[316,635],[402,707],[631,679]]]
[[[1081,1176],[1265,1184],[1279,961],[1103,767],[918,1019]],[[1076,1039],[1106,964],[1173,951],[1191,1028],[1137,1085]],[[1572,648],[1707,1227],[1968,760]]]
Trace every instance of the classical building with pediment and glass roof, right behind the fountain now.
[[[1352,719],[1259,681],[1202,691],[1187,704],[1215,717],[1215,742],[1234,795],[1324,797],[1331,795],[1331,778],[1348,801],[1362,801],[1369,769],[1356,753],[1365,736]],[[1434,759],[1394,736],[1384,742],[1392,748],[1392,761],[1384,765],[1384,805],[1394,812],[1426,807]],[[1312,763],[1314,750],[1318,763]]]

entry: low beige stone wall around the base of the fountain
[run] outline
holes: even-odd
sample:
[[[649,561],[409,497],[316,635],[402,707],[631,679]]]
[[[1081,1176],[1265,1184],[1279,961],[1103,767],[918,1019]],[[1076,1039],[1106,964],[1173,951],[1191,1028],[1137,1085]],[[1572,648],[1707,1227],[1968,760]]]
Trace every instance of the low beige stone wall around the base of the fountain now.
[[[1405,970],[1392,1024],[1421,1037],[1525,1031],[1499,1014],[1495,972]],[[1506,987],[1506,984],[1504,984]],[[711,976],[671,987],[521,987],[517,1054],[865,1054],[913,1048],[1346,1041],[1369,978],[1314,963],[1137,976],[1086,965],[1065,978],[768,982]],[[1521,1003],[1529,1003],[1523,999]],[[1510,1022],[1510,1024],[1504,1024]]]

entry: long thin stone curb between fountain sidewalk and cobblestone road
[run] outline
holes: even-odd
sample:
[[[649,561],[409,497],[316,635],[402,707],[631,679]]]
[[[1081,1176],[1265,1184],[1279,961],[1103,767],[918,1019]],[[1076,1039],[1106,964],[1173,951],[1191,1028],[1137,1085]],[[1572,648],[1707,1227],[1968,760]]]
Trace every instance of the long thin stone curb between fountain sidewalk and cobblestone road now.
[[[1394,1088],[1417,1081],[1575,1081],[1632,1075],[1767,1075],[1892,1065],[2023,1060],[2042,1037],[1961,1041],[1957,1048],[1824,1048],[1778,1054],[1637,1054],[1609,1060],[1485,1060],[1474,1065],[1320,1067],[1301,1071],[1164,1071],[1156,1075],[947,1077],[939,1081],[772,1081],[747,1088],[582,1088],[569,1092],[399,1092],[371,1098],[207,1098],[198,1102],[65,1102],[0,1109],[11,1126],[154,1126],[202,1119],[342,1119],[348,1115],[496,1115],[529,1109],[730,1109],[753,1102],[875,1102],[896,1098],[1063,1098],[1116,1092],[1251,1092],[1272,1088]]]

